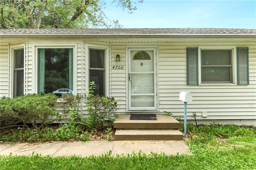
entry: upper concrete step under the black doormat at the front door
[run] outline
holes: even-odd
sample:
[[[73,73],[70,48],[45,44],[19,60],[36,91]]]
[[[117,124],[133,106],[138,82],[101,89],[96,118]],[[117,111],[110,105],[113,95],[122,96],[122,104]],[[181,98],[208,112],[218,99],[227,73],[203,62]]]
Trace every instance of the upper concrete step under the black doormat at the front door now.
[[[119,115],[114,128],[122,129],[179,129],[180,122],[168,115],[156,115],[157,120],[130,120],[130,115]]]

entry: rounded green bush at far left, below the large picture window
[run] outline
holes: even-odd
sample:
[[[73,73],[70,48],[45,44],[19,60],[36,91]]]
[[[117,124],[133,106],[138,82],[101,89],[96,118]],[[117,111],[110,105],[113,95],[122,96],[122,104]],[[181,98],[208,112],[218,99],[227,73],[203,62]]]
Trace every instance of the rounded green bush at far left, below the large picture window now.
[[[0,99],[0,123],[1,128],[24,125],[29,128],[41,128],[54,121],[56,116],[55,105],[56,95],[41,93],[39,95],[23,95],[10,99]]]

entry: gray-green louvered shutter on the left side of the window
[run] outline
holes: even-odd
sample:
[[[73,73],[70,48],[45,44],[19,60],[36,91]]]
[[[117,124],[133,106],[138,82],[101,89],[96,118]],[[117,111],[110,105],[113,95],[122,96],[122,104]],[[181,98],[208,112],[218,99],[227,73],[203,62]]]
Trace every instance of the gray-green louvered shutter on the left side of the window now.
[[[187,48],[187,85],[198,85],[198,48]]]

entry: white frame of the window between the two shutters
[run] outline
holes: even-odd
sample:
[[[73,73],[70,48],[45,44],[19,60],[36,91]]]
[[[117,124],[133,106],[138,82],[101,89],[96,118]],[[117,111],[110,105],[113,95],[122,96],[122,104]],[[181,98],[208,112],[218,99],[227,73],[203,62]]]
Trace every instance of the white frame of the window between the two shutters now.
[[[231,50],[232,82],[231,83],[202,83],[202,50]],[[237,85],[236,46],[198,46],[198,85]]]

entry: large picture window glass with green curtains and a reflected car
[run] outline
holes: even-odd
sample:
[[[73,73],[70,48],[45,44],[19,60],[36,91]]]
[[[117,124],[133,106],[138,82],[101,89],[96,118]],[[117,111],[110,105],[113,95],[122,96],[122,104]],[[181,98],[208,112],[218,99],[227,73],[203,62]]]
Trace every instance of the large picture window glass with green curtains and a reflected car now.
[[[38,93],[73,95],[73,48],[38,48]]]

